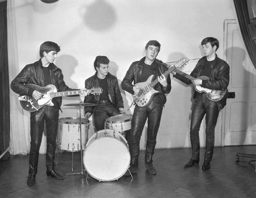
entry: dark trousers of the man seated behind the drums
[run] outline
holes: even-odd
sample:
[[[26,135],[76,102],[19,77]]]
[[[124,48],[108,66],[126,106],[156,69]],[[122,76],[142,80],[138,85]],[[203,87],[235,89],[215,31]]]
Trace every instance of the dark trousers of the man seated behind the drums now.
[[[94,110],[94,124],[96,131],[105,129],[105,121],[107,117],[121,114],[117,106],[113,105],[110,101],[99,102],[99,106]]]

